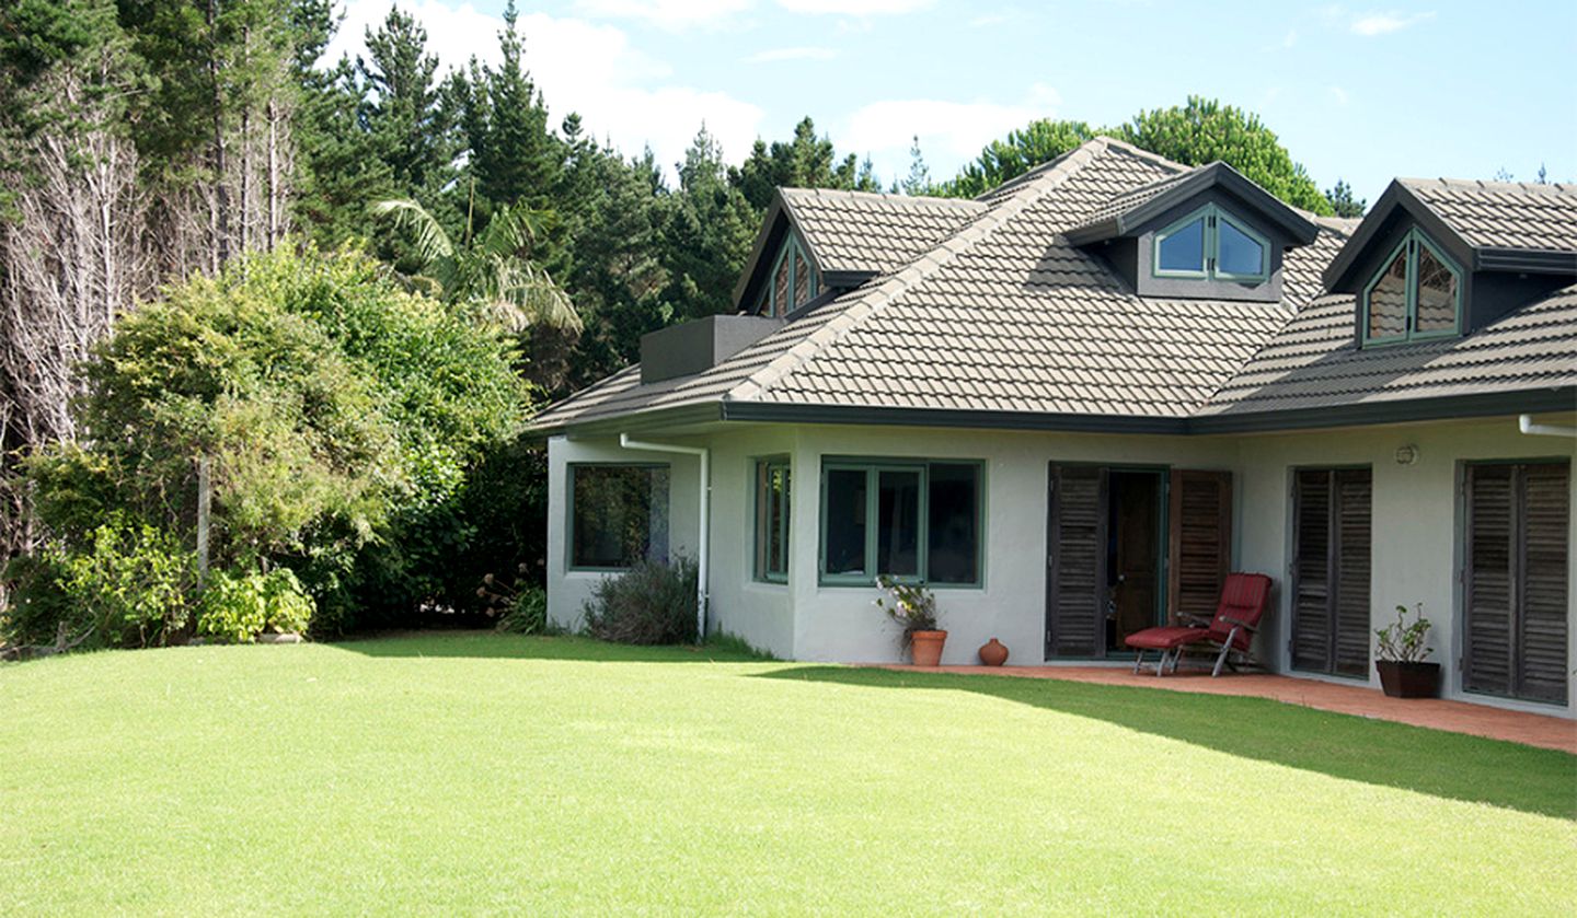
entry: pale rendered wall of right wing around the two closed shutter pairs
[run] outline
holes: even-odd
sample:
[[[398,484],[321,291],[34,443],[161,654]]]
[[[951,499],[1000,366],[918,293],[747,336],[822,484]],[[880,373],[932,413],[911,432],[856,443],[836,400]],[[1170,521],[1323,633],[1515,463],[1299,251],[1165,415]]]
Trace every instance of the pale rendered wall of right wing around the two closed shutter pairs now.
[[[1400,446],[1416,446],[1418,461],[1396,463]],[[1479,704],[1577,716],[1577,679],[1568,679],[1568,705],[1517,702],[1462,691],[1462,465],[1474,460],[1533,460],[1577,457],[1577,441],[1523,436],[1515,417],[1474,422],[1415,424],[1339,431],[1255,435],[1240,439],[1235,526],[1236,559],[1243,570],[1260,570],[1284,587],[1292,570],[1292,472],[1301,466],[1367,465],[1374,469],[1372,504],[1372,628],[1396,619],[1396,606],[1424,603],[1433,625],[1430,661],[1441,663],[1441,694]],[[1577,482],[1577,479],[1574,479]],[[1577,507],[1577,488],[1572,505]],[[1572,513],[1577,520],[1577,513]],[[1569,535],[1577,546],[1577,526]],[[1569,557],[1569,590],[1577,589],[1577,551]],[[1290,669],[1292,603],[1277,589],[1277,606],[1266,628],[1266,660]],[[1577,594],[1569,594],[1577,595]],[[1577,663],[1577,628],[1569,628],[1568,663]],[[1372,660],[1372,647],[1370,647]],[[1353,682],[1342,677],[1310,679]],[[1571,674],[1568,674],[1571,676]],[[1369,683],[1380,688],[1372,661]]]

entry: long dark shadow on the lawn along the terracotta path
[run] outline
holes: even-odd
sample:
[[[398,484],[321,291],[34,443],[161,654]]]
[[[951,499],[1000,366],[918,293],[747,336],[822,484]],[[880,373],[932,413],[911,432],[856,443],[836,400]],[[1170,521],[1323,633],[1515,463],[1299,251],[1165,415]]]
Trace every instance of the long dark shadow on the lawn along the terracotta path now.
[[[973,691],[1333,778],[1577,819],[1577,756],[1263,698],[845,666],[755,677]]]

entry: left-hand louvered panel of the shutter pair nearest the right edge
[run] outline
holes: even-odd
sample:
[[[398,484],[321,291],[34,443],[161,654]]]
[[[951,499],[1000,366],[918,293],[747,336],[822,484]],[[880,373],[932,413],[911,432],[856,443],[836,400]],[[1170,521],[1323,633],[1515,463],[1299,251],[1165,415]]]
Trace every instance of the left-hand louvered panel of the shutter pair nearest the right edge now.
[[[1512,466],[1467,468],[1463,687],[1511,694]]]

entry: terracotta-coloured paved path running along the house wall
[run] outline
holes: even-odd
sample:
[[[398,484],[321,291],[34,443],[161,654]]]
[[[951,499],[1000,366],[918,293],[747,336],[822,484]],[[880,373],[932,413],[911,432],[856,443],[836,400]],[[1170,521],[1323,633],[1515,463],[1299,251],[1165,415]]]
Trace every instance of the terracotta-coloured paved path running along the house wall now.
[[[1156,677],[1153,671],[1135,676],[1117,666],[882,666],[883,669],[954,672],[960,676],[1016,676],[1023,679],[1063,679],[1098,685],[1128,685],[1200,694],[1247,694],[1318,710],[1356,716],[1372,716],[1437,731],[1473,734],[1509,740],[1545,750],[1577,754],[1577,721],[1519,710],[1503,710],[1465,701],[1426,698],[1386,698],[1377,688],[1336,685],[1317,679],[1292,679],[1265,674],[1225,674],[1211,679],[1210,671],[1178,669]]]

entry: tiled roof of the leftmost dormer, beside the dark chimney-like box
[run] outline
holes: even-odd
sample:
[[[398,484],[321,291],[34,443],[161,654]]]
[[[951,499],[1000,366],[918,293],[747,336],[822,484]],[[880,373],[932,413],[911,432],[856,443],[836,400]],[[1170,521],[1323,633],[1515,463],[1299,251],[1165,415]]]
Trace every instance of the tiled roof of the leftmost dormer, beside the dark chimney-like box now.
[[[986,205],[828,189],[782,189],[822,271],[885,274],[959,231]]]

